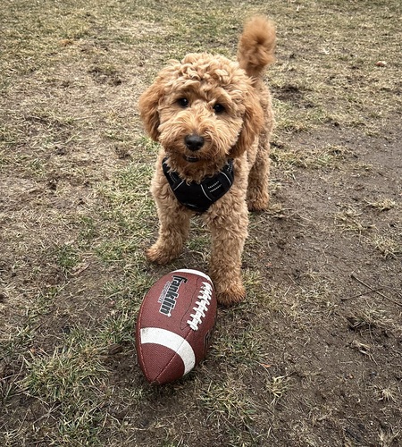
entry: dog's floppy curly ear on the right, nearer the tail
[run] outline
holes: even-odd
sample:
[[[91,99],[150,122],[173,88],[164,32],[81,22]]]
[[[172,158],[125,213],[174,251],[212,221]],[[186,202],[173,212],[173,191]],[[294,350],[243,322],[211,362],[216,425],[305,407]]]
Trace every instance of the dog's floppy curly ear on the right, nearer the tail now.
[[[258,136],[264,126],[264,111],[254,91],[247,92],[244,105],[246,106],[246,112],[243,116],[243,127],[236,144],[230,149],[230,156],[233,158],[241,156],[251,147],[255,137]]]

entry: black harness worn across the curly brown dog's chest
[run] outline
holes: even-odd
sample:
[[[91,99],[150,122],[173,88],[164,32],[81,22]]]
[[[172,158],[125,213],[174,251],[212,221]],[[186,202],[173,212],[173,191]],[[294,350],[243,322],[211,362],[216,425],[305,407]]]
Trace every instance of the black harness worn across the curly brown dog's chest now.
[[[181,205],[204,213],[211,205],[230,190],[234,181],[233,160],[230,159],[223,166],[222,171],[212,177],[205,177],[203,181],[182,180],[178,173],[175,173],[167,165],[167,157],[163,158],[162,168],[167,181],[171,185],[172,191]]]

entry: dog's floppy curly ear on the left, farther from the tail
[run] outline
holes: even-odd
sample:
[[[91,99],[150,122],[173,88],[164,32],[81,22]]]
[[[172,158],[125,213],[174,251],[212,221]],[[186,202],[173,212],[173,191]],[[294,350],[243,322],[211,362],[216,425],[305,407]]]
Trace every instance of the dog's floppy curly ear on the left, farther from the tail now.
[[[164,95],[163,80],[158,76],[155,82],[139,97],[138,108],[141,120],[148,135],[158,141],[159,139],[159,113],[158,107]]]

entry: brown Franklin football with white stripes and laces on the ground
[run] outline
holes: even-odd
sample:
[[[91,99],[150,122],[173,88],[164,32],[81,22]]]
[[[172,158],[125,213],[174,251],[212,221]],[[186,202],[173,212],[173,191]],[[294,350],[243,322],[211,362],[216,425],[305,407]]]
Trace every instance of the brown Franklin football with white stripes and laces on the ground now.
[[[147,381],[173,382],[205,358],[215,316],[208,275],[181,269],[158,280],[142,301],[136,326],[138,363]]]

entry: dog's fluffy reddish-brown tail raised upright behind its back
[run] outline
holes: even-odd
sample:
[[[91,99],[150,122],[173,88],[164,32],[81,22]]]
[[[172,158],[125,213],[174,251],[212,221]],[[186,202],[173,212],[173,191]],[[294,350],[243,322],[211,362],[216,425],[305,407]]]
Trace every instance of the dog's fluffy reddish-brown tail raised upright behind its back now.
[[[263,16],[255,16],[247,21],[240,36],[238,61],[248,76],[257,79],[264,68],[275,60],[276,32],[272,21]]]

